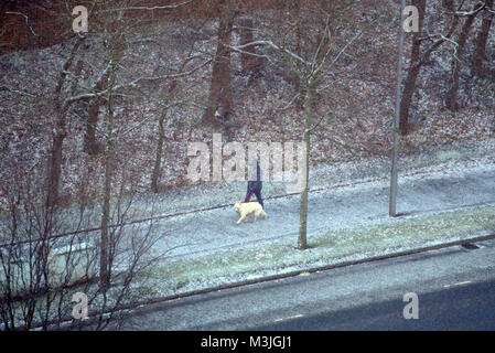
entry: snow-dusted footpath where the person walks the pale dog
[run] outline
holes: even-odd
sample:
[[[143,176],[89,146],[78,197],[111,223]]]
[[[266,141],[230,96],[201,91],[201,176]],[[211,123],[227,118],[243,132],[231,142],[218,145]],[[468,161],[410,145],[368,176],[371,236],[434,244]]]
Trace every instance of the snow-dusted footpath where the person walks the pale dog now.
[[[448,161],[408,171],[399,181],[399,213],[424,215],[438,211],[495,203],[495,163]],[[348,182],[348,185],[315,191],[309,199],[308,232],[321,234],[388,221],[387,178]],[[235,201],[235,200],[234,200]],[[173,257],[192,257],[218,249],[246,248],[260,242],[292,238],[299,229],[300,196],[267,200],[267,220],[236,225],[233,207],[203,211],[172,217],[159,224],[175,229],[162,247],[176,247]]]

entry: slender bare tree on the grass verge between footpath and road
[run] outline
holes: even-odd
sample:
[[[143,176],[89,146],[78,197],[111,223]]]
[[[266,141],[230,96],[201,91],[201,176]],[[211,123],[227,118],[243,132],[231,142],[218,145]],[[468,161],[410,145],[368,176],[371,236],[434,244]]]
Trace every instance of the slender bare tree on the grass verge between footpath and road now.
[[[357,40],[362,31],[351,39],[341,32],[349,25],[346,22],[346,6],[336,1],[295,0],[280,12],[275,13],[277,24],[263,29],[266,40],[259,40],[234,50],[244,51],[252,45],[261,45],[272,51],[272,62],[280,67],[289,66],[299,81],[297,97],[302,97],[303,118],[301,119],[303,160],[300,164],[300,222],[298,248],[306,249],[308,244],[308,202],[311,135],[320,126],[324,115],[318,110],[318,92],[324,78],[334,69],[334,64],[348,46]],[[294,101],[295,99],[291,99]]]

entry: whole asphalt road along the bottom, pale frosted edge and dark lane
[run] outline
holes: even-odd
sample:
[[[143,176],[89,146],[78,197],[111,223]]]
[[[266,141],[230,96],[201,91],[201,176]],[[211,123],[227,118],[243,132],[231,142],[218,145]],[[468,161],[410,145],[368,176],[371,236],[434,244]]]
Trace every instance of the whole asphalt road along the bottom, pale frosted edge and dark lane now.
[[[495,330],[495,240],[182,298],[126,330]],[[406,319],[417,296],[418,319]]]

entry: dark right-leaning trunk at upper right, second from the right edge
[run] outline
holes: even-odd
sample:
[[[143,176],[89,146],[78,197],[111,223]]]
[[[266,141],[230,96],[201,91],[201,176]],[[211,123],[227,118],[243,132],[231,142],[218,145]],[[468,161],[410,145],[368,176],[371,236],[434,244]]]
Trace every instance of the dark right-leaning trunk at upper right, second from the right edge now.
[[[459,34],[456,53],[452,57],[452,76],[450,78],[450,89],[445,99],[446,107],[452,111],[459,110],[458,104],[459,73],[462,66],[462,57],[464,54],[465,43],[467,41],[470,30],[473,25],[474,19],[476,18],[477,13],[478,12],[475,12],[475,14],[471,14],[465,19],[464,25],[462,26],[461,33]]]

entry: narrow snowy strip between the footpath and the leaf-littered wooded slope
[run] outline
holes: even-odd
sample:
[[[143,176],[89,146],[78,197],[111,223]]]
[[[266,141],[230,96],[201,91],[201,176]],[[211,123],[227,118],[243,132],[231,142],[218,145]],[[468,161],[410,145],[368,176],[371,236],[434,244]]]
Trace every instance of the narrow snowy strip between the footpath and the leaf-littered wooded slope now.
[[[493,164],[495,161],[495,138],[478,142],[448,145],[431,148],[413,154],[399,157],[399,182],[408,175],[424,174],[433,171],[449,171],[449,175],[462,173],[465,169]],[[332,164],[318,164],[310,168],[310,188],[312,190],[331,189],[340,185],[356,185],[370,181],[385,181],[390,176],[388,157],[359,158]],[[286,184],[265,182],[262,195],[270,197],[286,194]],[[132,207],[136,217],[174,214],[219,205],[234,205],[246,194],[246,182],[209,182],[194,186],[183,186],[166,193],[144,193],[134,196]]]

